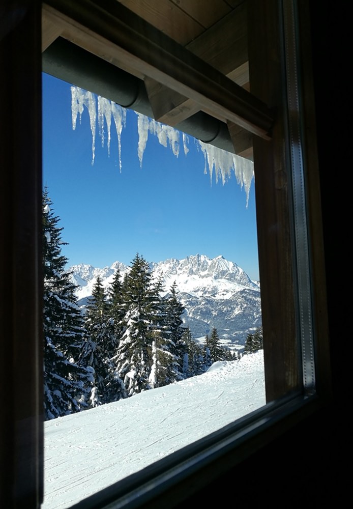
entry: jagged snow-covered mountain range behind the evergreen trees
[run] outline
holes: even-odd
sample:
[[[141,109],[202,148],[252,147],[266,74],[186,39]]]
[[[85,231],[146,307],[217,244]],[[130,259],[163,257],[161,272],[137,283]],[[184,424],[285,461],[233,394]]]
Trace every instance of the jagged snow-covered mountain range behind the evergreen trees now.
[[[179,299],[185,306],[184,321],[193,337],[205,336],[216,327],[227,342],[244,344],[247,333],[261,325],[259,285],[222,256],[210,259],[196,254],[184,260],[153,262],[150,267],[154,277],[162,275],[165,293],[176,282]],[[130,270],[121,262],[103,269],[84,264],[70,267],[73,282],[78,286],[79,305],[85,305],[92,295],[97,276],[107,288],[117,268],[122,275]]]

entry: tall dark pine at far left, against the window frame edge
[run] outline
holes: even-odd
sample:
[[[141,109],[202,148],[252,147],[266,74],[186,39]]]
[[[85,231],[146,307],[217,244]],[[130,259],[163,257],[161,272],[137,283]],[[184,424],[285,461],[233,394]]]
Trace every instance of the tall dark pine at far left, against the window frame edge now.
[[[52,419],[87,407],[92,370],[77,363],[84,340],[83,319],[75,297],[67,258],[62,254],[63,228],[43,192],[44,265],[44,412]]]

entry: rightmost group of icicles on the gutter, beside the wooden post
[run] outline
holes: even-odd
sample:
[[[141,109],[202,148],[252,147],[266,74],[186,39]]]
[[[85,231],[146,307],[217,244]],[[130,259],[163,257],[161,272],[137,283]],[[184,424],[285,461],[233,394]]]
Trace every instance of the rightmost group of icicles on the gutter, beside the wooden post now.
[[[215,170],[216,183],[218,179],[222,179],[222,184],[230,178],[231,172],[234,172],[238,184],[243,187],[246,193],[246,207],[249,203],[249,192],[251,181],[254,177],[254,163],[248,159],[237,156],[227,152],[226,150],[219,149],[213,145],[203,143],[198,140],[198,144],[204,155],[205,160],[205,173],[207,172],[207,165],[209,167],[210,179],[212,182],[213,169]]]

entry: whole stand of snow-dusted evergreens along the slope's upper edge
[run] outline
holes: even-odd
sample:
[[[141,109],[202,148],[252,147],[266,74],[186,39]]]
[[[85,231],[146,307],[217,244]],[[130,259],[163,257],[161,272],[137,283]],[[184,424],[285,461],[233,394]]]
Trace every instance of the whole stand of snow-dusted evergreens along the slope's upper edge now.
[[[236,360],[213,328],[201,345],[183,326],[175,284],[165,297],[148,262],[137,253],[130,271],[105,289],[98,277],[86,308],[77,305],[65,270],[60,218],[43,191],[44,414],[52,419],[131,397],[204,373],[218,360]],[[251,337],[250,337],[251,336]],[[262,330],[249,334],[245,353],[262,348]]]

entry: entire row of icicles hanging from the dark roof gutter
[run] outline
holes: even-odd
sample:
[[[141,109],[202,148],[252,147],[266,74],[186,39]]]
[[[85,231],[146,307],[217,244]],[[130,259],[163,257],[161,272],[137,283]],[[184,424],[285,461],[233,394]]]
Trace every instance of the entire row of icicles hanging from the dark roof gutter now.
[[[107,130],[107,148],[110,155],[110,130],[111,119],[113,118],[117,133],[117,144],[119,150],[119,166],[122,170],[121,159],[121,135],[123,127],[126,126],[126,109],[118,104],[115,104],[104,97],[97,96],[92,92],[80,89],[79,87],[71,87],[71,111],[72,111],[72,128],[76,129],[77,116],[81,121],[81,116],[84,107],[87,108],[90,116],[90,125],[92,132],[92,164],[95,159],[95,139],[96,139],[96,123],[97,123],[97,109],[98,109],[98,131],[104,146],[105,128]],[[98,104],[97,104],[98,103]],[[97,108],[98,105],[98,108]],[[156,120],[150,119],[140,113],[137,115],[137,129],[138,129],[138,158],[142,166],[142,158],[146,148],[149,133],[156,136],[159,143],[163,147],[169,146],[174,156],[179,156],[180,151],[180,136],[183,139],[184,154],[189,152],[188,143],[189,137],[173,127],[161,124]],[[105,124],[104,124],[105,121]],[[253,162],[243,157],[231,154],[225,150],[214,147],[200,140],[195,140],[198,148],[204,155],[204,173],[209,171],[212,181],[213,172],[215,172],[216,182],[219,179],[224,184],[233,172],[236,176],[238,184],[243,187],[246,192],[246,205],[248,206],[249,191],[251,181],[254,176]]]

